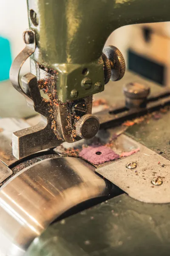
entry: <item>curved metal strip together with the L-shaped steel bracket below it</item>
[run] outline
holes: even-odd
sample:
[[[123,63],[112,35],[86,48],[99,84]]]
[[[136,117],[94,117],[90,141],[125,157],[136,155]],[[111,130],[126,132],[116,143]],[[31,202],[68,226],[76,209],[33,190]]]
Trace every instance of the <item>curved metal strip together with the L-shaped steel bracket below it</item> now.
[[[51,114],[49,102],[43,101],[38,88],[37,77],[31,73],[22,77],[20,85],[20,70],[26,59],[33,54],[36,48],[35,32],[26,30],[23,33],[26,47],[14,59],[10,80],[14,88],[26,97],[28,106],[42,115],[40,123],[13,133],[13,155],[21,159],[37,151],[57,146],[59,141],[57,134],[51,130]],[[45,118],[44,118],[45,116]],[[48,136],[47,136],[48,134]]]

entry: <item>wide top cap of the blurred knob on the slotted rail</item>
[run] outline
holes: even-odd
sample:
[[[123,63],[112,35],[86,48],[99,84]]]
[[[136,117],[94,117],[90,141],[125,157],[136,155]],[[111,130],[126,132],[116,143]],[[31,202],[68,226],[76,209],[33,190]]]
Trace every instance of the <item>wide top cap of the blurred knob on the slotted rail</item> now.
[[[130,99],[144,99],[150,93],[150,88],[147,85],[137,82],[125,84],[123,91],[125,96]]]

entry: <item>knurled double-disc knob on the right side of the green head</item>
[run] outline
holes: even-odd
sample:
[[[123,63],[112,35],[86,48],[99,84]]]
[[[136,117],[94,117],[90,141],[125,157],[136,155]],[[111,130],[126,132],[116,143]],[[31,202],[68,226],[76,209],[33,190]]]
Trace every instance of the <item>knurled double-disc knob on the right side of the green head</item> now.
[[[125,74],[125,60],[122,53],[116,47],[110,45],[103,49],[103,53],[108,58],[111,65],[111,80],[118,81]]]

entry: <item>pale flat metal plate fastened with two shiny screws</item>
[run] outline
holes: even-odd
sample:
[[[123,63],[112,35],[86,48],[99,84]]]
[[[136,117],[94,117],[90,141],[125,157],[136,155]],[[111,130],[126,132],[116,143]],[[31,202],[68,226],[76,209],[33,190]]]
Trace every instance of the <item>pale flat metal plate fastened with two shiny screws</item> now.
[[[123,139],[127,136],[122,134]],[[134,143],[134,140],[128,138]],[[135,142],[136,143],[136,142]],[[146,203],[170,202],[170,161],[138,143],[140,151],[122,160],[99,167],[96,172],[113,182],[130,197]],[[126,164],[135,162],[135,169]],[[152,180],[160,177],[162,184],[155,186]]]

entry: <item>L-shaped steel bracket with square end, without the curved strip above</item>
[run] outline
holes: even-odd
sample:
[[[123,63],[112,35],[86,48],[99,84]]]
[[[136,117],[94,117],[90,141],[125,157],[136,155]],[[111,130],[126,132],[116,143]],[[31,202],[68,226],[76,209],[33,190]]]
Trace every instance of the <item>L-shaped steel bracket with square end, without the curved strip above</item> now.
[[[28,73],[21,79],[23,85],[28,87],[30,98],[26,98],[28,106],[40,113],[42,118],[37,125],[13,133],[12,150],[14,157],[21,159],[30,154],[47,148],[56,147],[62,142],[57,129],[52,129],[56,125],[54,115],[51,114],[50,102],[42,99],[37,84],[37,78]],[[32,103],[33,102],[33,103]]]

